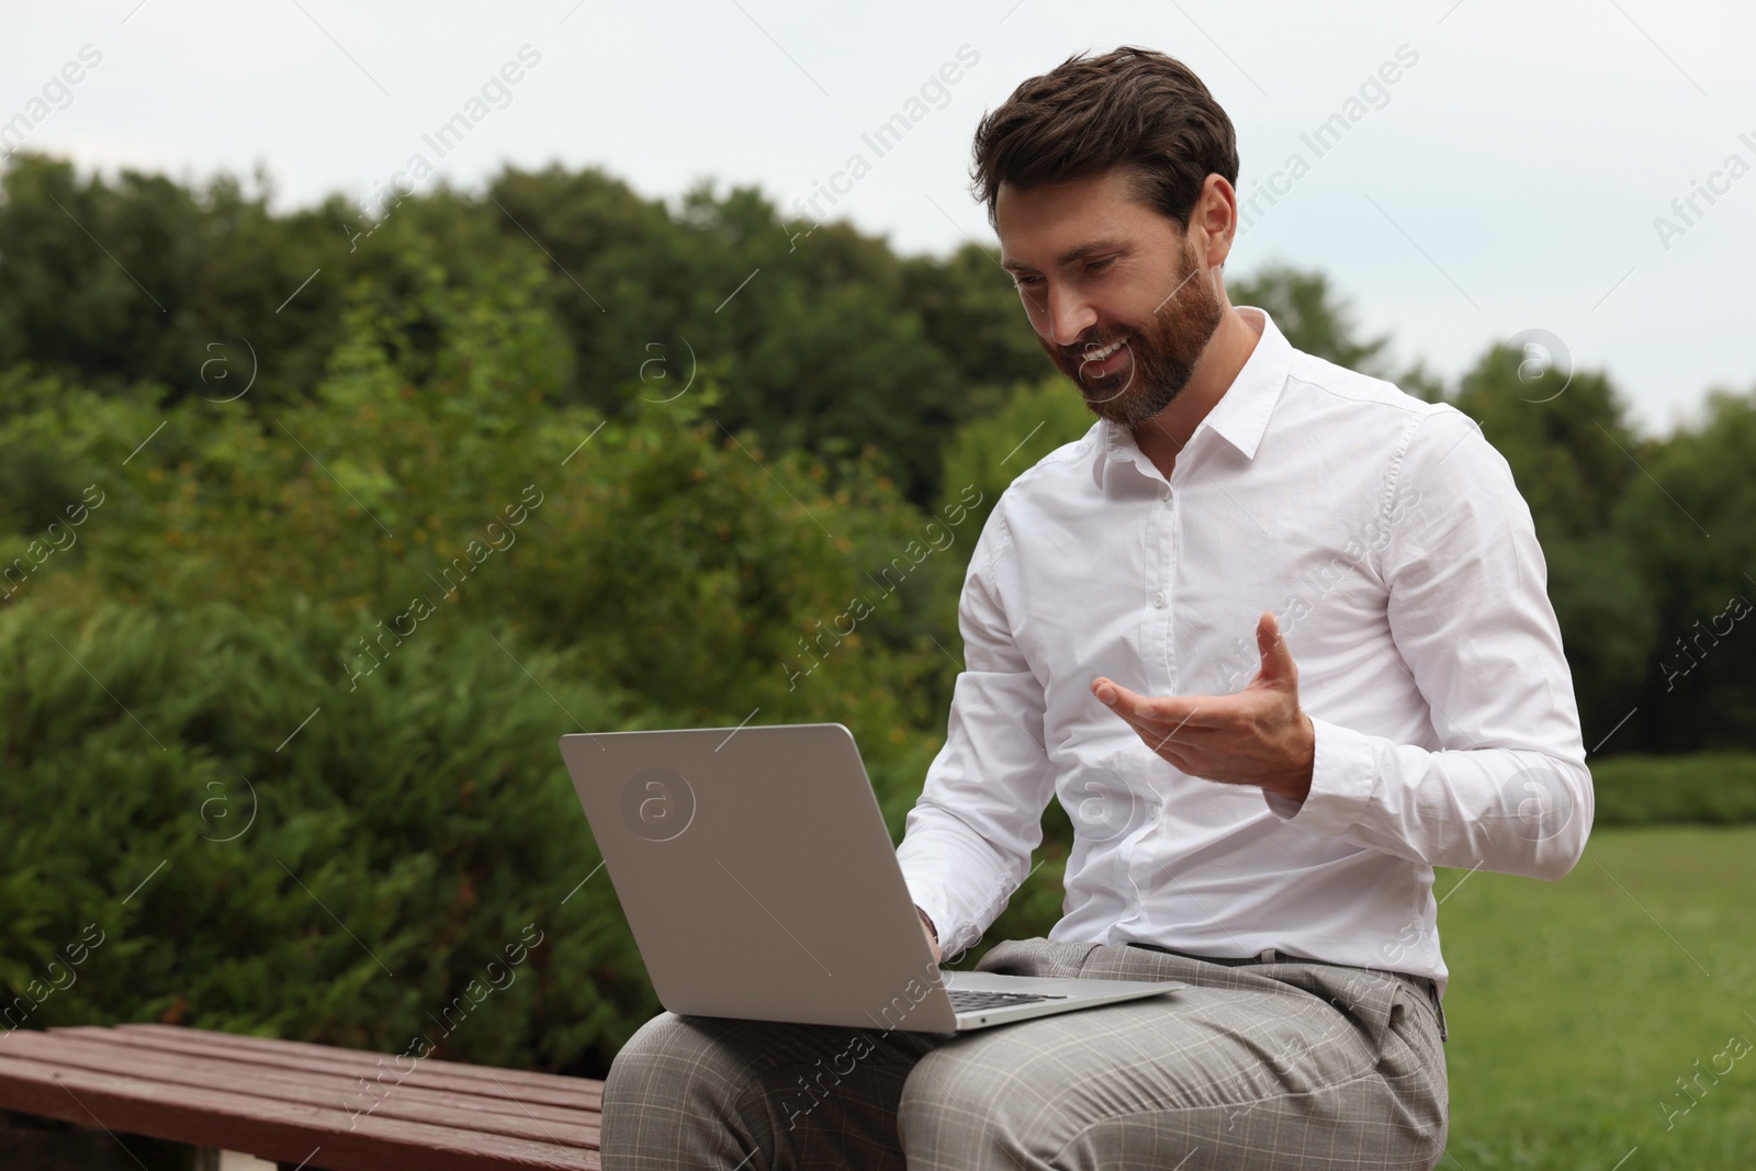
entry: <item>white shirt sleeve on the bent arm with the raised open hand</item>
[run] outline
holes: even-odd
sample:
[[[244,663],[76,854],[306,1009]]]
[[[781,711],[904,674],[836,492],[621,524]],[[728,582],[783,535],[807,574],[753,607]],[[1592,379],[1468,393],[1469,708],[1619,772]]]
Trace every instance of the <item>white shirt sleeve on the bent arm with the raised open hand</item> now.
[[[1429,866],[1561,878],[1591,832],[1591,772],[1529,509],[1456,411],[1415,430],[1396,474],[1419,504],[1382,555],[1389,630],[1440,748],[1313,716],[1310,794],[1270,808]]]

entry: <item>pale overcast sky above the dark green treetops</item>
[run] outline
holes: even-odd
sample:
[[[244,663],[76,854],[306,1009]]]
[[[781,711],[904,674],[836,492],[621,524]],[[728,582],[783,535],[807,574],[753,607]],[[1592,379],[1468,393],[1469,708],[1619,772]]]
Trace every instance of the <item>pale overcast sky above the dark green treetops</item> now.
[[[504,162],[558,160],[601,165],[673,205],[704,177],[722,191],[760,186],[788,209],[817,193],[820,211],[904,253],[994,242],[968,191],[983,111],[1073,53],[1147,46],[1187,61],[1231,114],[1240,193],[1277,191],[1273,204],[1257,197],[1263,214],[1231,270],[1322,269],[1368,330],[1447,377],[1493,339],[1547,330],[1577,365],[1608,369],[1647,430],[1698,413],[1709,386],[1756,384],[1747,4],[0,0],[0,121],[18,128],[25,116],[26,146],[86,167],[200,181],[260,163],[290,207],[330,191],[367,198],[414,154],[460,186]],[[957,81],[936,88],[946,63]],[[56,83],[63,68],[79,81]],[[441,156],[427,137],[453,114],[478,121]],[[880,154],[866,135],[894,114],[917,121]],[[869,174],[838,179],[853,154]],[[832,183],[843,193],[831,200]]]

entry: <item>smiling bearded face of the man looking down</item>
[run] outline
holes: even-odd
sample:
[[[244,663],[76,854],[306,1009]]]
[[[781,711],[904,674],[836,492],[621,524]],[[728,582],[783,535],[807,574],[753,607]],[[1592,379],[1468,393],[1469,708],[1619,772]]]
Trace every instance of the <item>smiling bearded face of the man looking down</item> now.
[[[1085,406],[1124,425],[1169,406],[1222,313],[1184,230],[1133,198],[1124,170],[1003,184],[994,219],[1036,341]]]

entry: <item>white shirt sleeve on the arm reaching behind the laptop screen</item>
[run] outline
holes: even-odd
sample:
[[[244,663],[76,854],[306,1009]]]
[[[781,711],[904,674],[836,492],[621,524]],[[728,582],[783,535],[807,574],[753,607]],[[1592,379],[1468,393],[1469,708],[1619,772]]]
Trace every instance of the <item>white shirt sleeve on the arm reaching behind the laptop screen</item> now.
[[[999,918],[1043,839],[1054,792],[1043,753],[1043,685],[1011,637],[1001,585],[1011,565],[1004,499],[989,516],[964,576],[957,676],[945,746],[910,809],[897,862],[946,957]]]

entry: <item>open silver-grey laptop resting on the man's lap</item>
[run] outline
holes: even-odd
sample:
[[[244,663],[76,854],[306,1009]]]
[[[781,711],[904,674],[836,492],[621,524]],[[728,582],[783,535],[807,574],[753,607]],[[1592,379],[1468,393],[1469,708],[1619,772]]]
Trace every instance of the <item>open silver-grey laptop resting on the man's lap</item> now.
[[[1187,987],[943,971],[839,723],[569,734],[560,755],[673,1013],[964,1032]]]

